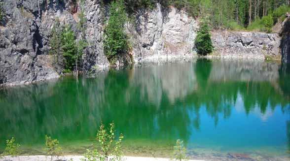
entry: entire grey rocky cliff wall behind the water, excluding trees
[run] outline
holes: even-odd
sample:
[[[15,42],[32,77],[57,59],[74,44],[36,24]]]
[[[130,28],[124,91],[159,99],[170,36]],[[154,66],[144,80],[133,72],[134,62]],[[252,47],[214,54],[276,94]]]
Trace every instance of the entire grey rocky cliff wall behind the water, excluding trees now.
[[[6,12],[0,25],[0,85],[31,83],[59,77],[48,55],[50,32],[56,18],[62,25],[76,28],[78,4],[73,0],[0,0]],[[83,55],[84,69],[105,68],[109,61],[103,52],[103,33],[108,6],[100,0],[85,0],[88,48]],[[198,24],[186,12],[176,8],[140,9],[134,21],[126,24],[132,44],[134,63],[184,60],[196,56],[194,39]],[[213,33],[217,52],[222,57],[279,55],[279,36],[251,32]],[[225,38],[226,37],[226,38]],[[120,60],[121,66],[124,61]]]

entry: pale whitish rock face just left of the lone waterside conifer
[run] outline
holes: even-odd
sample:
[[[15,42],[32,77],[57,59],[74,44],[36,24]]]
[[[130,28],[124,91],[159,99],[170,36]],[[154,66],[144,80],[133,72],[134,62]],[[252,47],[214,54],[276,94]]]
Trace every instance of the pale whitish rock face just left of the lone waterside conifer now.
[[[127,25],[135,63],[193,57],[196,21],[183,10],[163,8],[140,10],[136,24]],[[135,28],[134,28],[135,27]]]

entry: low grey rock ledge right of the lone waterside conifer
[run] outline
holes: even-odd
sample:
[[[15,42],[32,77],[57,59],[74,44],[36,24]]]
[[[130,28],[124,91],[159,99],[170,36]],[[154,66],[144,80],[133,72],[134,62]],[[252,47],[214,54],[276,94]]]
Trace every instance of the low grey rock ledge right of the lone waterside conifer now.
[[[222,58],[279,59],[281,38],[277,33],[213,32],[216,53]]]

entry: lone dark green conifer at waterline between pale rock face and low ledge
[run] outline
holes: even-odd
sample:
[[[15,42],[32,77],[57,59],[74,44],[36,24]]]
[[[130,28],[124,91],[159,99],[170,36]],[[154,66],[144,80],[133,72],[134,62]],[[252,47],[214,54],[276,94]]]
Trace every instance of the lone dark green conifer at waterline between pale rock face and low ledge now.
[[[200,29],[195,38],[195,48],[199,55],[207,55],[213,52],[214,46],[208,26],[208,20],[206,18],[201,20]]]

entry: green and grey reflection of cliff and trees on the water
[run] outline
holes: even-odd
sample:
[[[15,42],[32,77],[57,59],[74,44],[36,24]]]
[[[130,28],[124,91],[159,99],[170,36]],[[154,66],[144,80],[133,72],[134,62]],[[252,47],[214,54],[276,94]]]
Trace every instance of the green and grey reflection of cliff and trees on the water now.
[[[96,79],[72,78],[0,91],[0,139],[14,135],[42,143],[92,138],[101,122],[114,120],[129,139],[188,140],[200,129],[200,109],[218,124],[241,99],[247,114],[278,105],[289,109],[289,73],[278,64],[211,62],[162,64],[110,70]],[[287,80],[286,80],[287,79]]]

